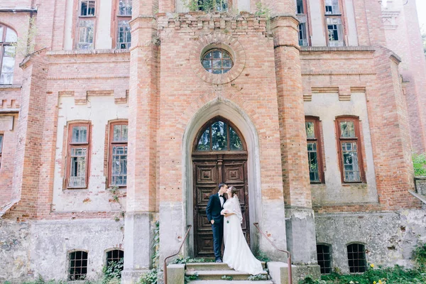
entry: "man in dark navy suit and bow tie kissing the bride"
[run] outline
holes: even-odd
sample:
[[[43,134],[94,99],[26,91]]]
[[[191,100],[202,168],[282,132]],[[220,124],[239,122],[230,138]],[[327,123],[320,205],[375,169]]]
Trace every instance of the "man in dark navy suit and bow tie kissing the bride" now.
[[[224,209],[224,203],[226,198],[224,193],[228,189],[228,186],[224,183],[219,184],[219,192],[209,197],[209,203],[207,203],[206,213],[207,219],[212,224],[213,231],[213,246],[214,246],[214,258],[216,262],[222,262],[220,258],[222,252],[222,239],[224,237],[224,216],[220,214]]]

